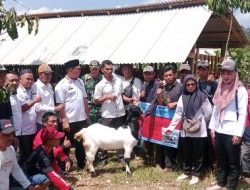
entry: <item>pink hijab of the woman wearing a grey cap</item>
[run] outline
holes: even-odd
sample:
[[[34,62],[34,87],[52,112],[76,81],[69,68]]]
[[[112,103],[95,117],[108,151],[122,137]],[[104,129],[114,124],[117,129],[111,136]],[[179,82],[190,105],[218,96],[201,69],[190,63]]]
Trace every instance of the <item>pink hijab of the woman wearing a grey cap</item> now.
[[[220,79],[213,98],[214,105],[219,109],[220,123],[224,120],[224,109],[235,99],[236,91],[240,86],[243,84],[239,81],[237,72],[235,72],[235,80],[229,85],[223,84]]]

